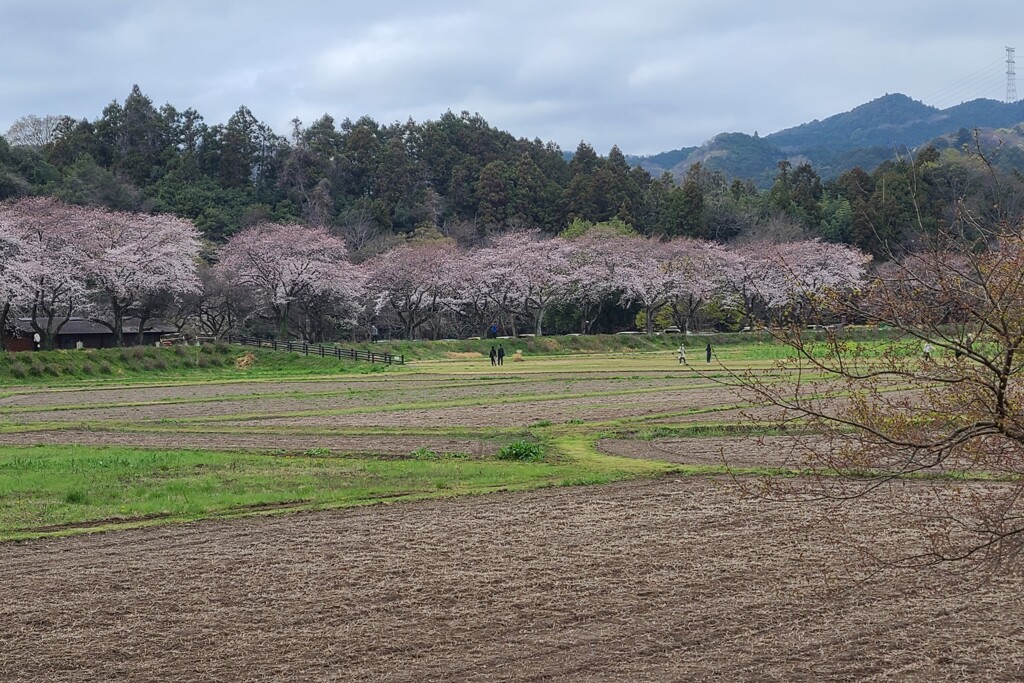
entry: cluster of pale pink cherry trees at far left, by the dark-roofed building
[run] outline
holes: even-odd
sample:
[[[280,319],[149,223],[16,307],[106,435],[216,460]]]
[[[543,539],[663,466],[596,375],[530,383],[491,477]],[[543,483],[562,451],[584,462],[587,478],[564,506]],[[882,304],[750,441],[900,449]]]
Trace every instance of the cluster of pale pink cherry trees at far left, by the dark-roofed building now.
[[[25,316],[42,348],[72,316],[145,322],[199,288],[200,238],[187,220],[30,198],[0,206],[0,333]],[[0,341],[3,335],[0,334]]]

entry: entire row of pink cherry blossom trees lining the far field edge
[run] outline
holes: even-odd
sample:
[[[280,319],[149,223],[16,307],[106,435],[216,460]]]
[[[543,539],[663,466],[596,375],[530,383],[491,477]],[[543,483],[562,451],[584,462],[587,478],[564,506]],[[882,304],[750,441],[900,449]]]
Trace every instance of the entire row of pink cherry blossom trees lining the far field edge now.
[[[28,199],[0,207],[3,323],[24,315],[53,344],[73,315],[101,322],[123,342],[126,316],[172,317],[223,336],[336,339],[371,324],[404,338],[504,331],[542,335],[554,307],[592,321],[604,306],[643,313],[646,331],[671,308],[690,327],[702,307],[770,322],[829,288],[855,286],[868,257],[817,241],[723,247],[592,230],[568,238],[504,233],[460,249],[404,244],[354,264],[326,228],[263,222],[200,258],[195,227]]]

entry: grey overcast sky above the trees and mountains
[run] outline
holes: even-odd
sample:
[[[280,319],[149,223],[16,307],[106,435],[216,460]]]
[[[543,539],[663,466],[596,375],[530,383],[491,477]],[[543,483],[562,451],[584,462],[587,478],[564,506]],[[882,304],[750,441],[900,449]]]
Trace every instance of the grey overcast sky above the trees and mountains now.
[[[887,92],[1004,99],[1007,45],[1024,74],[1019,0],[0,0],[0,132],[94,120],[137,83],[281,134],[466,110],[564,150],[656,154]]]

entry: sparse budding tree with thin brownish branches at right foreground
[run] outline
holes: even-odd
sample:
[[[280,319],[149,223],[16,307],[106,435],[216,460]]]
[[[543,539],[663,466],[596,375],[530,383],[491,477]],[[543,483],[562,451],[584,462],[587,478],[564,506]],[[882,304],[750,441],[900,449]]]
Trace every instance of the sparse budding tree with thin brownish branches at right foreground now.
[[[869,322],[893,339],[857,343],[839,327],[822,340],[793,325],[774,334],[795,357],[774,379],[749,373],[739,384],[774,412],[762,419],[795,416],[814,433],[800,442],[813,476],[768,480],[771,494],[924,487],[912,505],[889,499],[930,541],[904,559],[1014,565],[1024,549],[1024,226],[984,224],[963,205],[950,224],[858,291],[802,301],[812,319]]]

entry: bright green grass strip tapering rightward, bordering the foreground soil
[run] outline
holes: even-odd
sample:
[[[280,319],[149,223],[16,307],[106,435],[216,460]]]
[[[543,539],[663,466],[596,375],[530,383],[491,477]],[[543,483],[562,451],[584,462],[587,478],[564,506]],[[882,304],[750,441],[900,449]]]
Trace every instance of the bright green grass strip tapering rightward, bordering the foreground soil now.
[[[656,475],[561,439],[543,462],[0,446],[0,541]],[[314,450],[318,451],[318,450]]]

